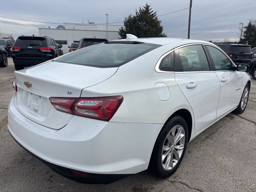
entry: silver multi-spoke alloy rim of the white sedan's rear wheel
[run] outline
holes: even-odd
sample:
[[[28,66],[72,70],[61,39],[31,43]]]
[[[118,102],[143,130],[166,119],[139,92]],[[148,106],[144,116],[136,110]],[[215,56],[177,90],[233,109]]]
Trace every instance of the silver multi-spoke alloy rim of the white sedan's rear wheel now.
[[[162,146],[162,168],[169,171],[178,163],[185,145],[185,130],[181,125],[174,126],[167,134]]]

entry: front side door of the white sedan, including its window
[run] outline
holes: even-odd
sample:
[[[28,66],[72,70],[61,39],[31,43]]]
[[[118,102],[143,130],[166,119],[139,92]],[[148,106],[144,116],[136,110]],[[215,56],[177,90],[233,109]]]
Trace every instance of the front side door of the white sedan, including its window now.
[[[221,86],[217,108],[217,118],[220,118],[238,106],[242,91],[242,74],[234,70],[234,64],[221,50],[213,46],[206,47]]]

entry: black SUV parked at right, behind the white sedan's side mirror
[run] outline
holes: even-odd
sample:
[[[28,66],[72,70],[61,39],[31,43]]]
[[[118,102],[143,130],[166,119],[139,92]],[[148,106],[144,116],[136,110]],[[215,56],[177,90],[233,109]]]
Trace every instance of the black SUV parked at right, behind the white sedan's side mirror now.
[[[214,42],[214,44],[220,47],[234,63],[250,64],[250,61],[253,58],[250,45],[232,42]]]

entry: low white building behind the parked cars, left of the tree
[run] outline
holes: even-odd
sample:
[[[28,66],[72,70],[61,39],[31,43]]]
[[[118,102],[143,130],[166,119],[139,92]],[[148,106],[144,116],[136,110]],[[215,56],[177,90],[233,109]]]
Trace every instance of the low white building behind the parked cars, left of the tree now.
[[[73,42],[79,42],[83,37],[86,38],[107,38],[108,40],[116,40],[120,38],[118,35],[122,25],[109,25],[108,34],[106,32],[106,24],[79,24],[79,23],[63,23],[56,29],[54,28],[38,28],[39,36],[49,36],[54,38],[57,43],[62,44],[63,53],[68,53],[68,46]]]

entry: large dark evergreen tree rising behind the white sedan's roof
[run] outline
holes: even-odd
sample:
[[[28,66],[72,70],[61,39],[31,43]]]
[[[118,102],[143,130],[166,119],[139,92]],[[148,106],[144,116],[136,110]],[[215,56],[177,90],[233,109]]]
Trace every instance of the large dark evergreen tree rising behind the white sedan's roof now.
[[[126,38],[126,34],[133,34],[138,38],[142,37],[166,37],[161,26],[161,20],[158,20],[156,12],[146,4],[139,11],[136,10],[135,15],[130,14],[124,20],[124,27],[119,30],[122,39]]]

